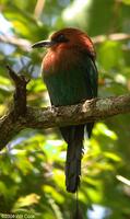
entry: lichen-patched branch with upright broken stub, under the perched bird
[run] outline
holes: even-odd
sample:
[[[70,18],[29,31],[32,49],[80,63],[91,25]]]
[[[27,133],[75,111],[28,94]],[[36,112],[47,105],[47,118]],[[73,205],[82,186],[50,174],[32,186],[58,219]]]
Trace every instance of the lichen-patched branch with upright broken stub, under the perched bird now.
[[[110,116],[130,113],[130,95],[93,99],[71,106],[26,106],[26,79],[8,67],[14,81],[13,107],[0,118],[0,150],[24,128],[44,129],[67,125],[86,124]]]

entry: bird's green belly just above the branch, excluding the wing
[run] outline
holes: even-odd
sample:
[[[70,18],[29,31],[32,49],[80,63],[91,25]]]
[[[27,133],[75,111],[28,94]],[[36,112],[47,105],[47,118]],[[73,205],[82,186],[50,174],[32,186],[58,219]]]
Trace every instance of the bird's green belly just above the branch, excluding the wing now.
[[[59,74],[44,78],[54,105],[71,105],[87,99],[86,84],[82,74]]]

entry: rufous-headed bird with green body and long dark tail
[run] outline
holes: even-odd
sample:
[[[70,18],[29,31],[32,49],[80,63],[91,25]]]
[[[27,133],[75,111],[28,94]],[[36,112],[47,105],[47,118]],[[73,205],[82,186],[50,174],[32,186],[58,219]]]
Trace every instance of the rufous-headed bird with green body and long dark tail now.
[[[49,41],[38,42],[32,47],[48,48],[42,68],[52,105],[78,104],[97,96],[95,50],[84,32],[72,27],[63,28],[54,33]],[[84,127],[90,138],[93,125],[87,123],[60,127],[68,143],[66,186],[70,193],[75,193],[80,185]]]

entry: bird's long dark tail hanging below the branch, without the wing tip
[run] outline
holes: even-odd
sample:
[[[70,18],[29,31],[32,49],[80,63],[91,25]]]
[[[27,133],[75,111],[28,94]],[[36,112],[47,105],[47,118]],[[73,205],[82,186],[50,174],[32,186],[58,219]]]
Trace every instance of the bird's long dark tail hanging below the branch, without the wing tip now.
[[[75,193],[80,185],[84,125],[63,127],[61,134],[68,143],[66,186],[68,192]]]

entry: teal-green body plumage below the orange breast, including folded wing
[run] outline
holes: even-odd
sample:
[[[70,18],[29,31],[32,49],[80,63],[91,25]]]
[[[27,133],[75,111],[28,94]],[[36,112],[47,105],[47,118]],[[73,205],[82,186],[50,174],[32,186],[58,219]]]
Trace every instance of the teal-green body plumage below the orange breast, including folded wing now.
[[[58,69],[56,73],[44,77],[52,104],[71,105],[96,96],[95,81],[97,79],[93,79],[95,71],[95,65],[87,55],[84,55],[84,59],[78,60],[74,67],[71,66],[70,60],[67,70]]]

